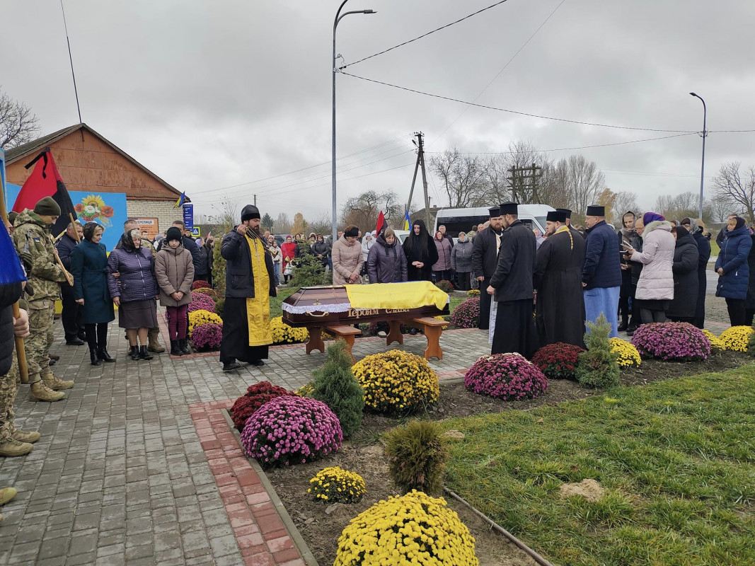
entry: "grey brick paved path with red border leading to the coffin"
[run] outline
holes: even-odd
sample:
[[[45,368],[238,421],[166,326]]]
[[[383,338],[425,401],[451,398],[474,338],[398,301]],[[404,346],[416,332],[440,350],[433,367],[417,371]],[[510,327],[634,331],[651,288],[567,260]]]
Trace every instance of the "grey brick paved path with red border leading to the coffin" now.
[[[217,411],[224,401],[261,380],[296,389],[324,354],[305,355],[303,345],[276,347],[263,368],[223,374],[215,356],[171,359],[165,353],[131,361],[122,331],[111,325],[109,351],[118,361],[93,368],[86,346],[65,346],[59,321],[55,331],[52,351],[61,358],[53,369],[75,387],[48,404],[29,401],[28,386],[21,386],[17,426],[39,429],[42,439],[26,457],[0,458],[0,487],[19,492],[0,509],[0,564],[276,564],[276,554],[291,560],[280,546],[285,539],[264,539],[266,549],[251,523],[232,525],[229,515],[235,518],[238,509],[228,505],[239,503],[233,496],[250,494],[239,482],[228,488],[216,481],[213,472],[222,468],[211,469],[205,449],[217,448],[203,448],[198,429],[205,438],[215,432],[202,430],[199,421],[214,418],[222,429]],[[422,355],[425,344],[424,337],[407,336],[402,347]],[[441,346],[444,360],[430,362],[441,377],[461,376],[489,352],[482,331],[446,332]],[[357,340],[353,351],[359,359],[385,350],[383,340],[371,338]],[[217,411],[203,413],[212,401],[220,401]],[[237,448],[229,448],[236,458]],[[237,542],[239,527],[246,538]],[[254,554],[242,556],[251,546]]]

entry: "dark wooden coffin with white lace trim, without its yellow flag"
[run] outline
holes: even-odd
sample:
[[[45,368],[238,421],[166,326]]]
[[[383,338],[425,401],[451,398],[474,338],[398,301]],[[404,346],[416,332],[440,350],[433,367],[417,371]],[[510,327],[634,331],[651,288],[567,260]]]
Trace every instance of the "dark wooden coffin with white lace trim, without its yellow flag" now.
[[[387,286],[388,287],[388,286]],[[344,286],[303,287],[283,301],[283,321],[294,327],[356,325],[361,322],[406,320],[448,315],[435,305],[418,309],[353,309]]]

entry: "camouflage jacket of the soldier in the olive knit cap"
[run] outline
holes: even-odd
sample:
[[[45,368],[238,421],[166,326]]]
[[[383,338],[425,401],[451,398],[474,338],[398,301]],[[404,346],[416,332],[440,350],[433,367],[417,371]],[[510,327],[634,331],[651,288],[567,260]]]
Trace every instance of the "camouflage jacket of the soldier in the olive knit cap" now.
[[[26,267],[29,283],[34,288],[32,299],[60,299],[60,283],[68,283],[63,269],[55,260],[50,229],[42,218],[29,209],[18,214],[14,222],[13,241]]]

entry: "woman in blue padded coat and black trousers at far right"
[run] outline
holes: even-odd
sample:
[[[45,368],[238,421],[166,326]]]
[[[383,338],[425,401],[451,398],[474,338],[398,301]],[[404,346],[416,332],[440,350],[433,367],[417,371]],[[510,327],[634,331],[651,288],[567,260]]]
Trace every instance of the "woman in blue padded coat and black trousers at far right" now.
[[[726,234],[716,260],[719,275],[716,297],[726,297],[726,309],[732,326],[744,326],[744,303],[750,285],[750,266],[747,257],[753,247],[750,230],[744,218],[729,218]]]

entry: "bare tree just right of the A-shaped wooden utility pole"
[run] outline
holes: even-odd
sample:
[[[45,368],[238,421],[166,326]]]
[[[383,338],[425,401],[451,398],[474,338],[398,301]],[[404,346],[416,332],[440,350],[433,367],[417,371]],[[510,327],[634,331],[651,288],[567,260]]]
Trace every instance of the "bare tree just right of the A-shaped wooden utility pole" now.
[[[430,159],[430,171],[443,183],[451,208],[487,204],[485,166],[479,156],[461,155],[456,148],[446,149],[441,155]]]

